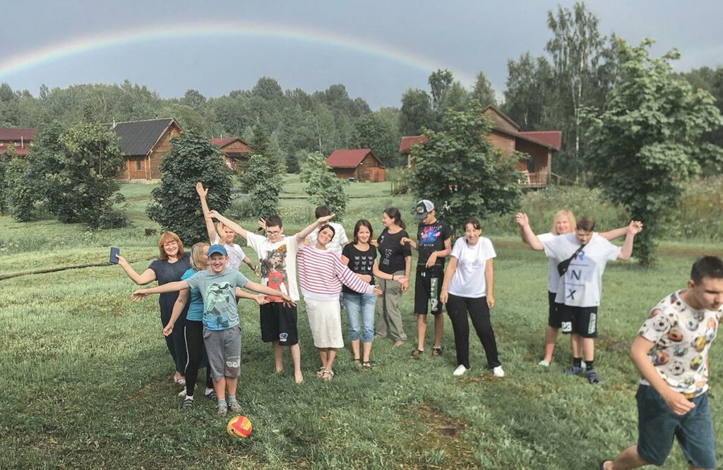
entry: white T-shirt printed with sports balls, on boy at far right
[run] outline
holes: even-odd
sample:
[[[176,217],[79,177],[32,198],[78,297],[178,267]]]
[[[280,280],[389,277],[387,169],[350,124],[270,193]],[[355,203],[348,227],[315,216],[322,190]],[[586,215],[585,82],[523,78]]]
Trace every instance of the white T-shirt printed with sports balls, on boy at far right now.
[[[723,320],[723,307],[696,310],[673,292],[650,311],[638,334],[655,346],[648,358],[673,390],[698,396],[708,390],[708,352]],[[650,385],[641,378],[640,383]]]

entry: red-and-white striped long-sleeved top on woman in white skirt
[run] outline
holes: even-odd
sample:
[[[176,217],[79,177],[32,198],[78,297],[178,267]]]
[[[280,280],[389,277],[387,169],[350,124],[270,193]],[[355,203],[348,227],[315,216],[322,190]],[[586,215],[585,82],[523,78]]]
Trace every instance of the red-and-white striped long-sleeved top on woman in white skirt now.
[[[374,286],[347,268],[335,252],[303,247],[296,252],[296,267],[305,298],[338,300],[342,283],[360,294],[374,291]]]

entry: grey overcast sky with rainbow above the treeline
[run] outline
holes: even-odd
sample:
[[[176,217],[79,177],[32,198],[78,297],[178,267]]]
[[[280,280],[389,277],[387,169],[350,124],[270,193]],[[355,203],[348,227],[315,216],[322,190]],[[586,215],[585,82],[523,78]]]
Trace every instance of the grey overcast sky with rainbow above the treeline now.
[[[539,0],[188,1],[4,0],[0,82],[38,94],[41,84],[122,82],[163,98],[189,88],[208,97],[247,90],[259,77],[311,93],[343,83],[372,108],[427,89],[435,68],[466,85],[487,74],[500,92],[508,59],[544,54]],[[573,1],[560,1],[572,7]],[[723,64],[722,1],[588,1],[602,33],[676,47],[678,70]]]

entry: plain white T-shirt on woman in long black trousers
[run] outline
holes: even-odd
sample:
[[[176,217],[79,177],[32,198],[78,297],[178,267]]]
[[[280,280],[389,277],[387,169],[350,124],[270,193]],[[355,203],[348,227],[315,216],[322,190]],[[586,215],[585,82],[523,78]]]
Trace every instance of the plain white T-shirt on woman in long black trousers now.
[[[487,282],[484,280],[484,267],[487,260],[497,257],[492,242],[480,236],[474,246],[469,246],[464,236],[459,237],[452,247],[450,256],[457,258],[457,269],[447,288],[448,293],[470,299],[479,299],[487,295]]]

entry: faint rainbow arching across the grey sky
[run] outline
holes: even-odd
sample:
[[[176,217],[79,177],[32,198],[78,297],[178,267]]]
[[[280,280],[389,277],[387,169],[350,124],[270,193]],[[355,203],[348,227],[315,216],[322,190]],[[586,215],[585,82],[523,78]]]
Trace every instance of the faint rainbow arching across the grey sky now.
[[[450,69],[463,85],[470,86],[473,85],[475,81],[473,74],[454,69],[443,61],[367,38],[354,38],[341,33],[305,29],[281,23],[254,24],[243,21],[215,22],[210,20],[105,31],[103,33],[70,38],[57,43],[54,42],[52,45],[36,48],[32,51],[25,51],[14,56],[4,58],[0,56],[0,79],[27,69],[39,67],[43,64],[59,61],[66,57],[98,51],[103,48],[168,38],[213,38],[224,36],[296,40],[304,43],[344,48],[359,54],[388,59],[424,72],[432,72],[440,68]]]

